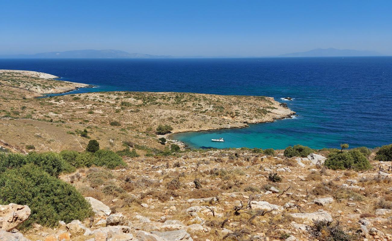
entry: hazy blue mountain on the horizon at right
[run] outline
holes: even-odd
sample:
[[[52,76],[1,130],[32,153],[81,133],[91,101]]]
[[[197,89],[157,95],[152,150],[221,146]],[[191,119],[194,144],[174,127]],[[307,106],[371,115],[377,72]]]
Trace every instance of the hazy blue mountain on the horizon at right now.
[[[281,54],[278,57],[333,57],[333,56],[381,56],[382,54],[375,51],[362,51],[353,49],[312,49],[306,52],[298,52],[291,54]]]

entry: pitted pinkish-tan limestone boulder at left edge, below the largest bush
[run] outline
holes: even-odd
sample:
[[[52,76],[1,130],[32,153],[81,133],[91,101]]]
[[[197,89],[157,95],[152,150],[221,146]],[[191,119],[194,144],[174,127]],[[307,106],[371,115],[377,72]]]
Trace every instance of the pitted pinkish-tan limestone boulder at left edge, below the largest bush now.
[[[0,230],[11,231],[16,226],[27,220],[30,216],[30,208],[27,205],[0,205]]]

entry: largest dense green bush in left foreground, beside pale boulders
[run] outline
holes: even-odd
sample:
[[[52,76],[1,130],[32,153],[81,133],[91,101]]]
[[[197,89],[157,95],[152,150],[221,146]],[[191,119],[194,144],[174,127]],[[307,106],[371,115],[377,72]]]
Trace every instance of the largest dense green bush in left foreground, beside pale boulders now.
[[[0,174],[0,204],[9,203],[31,209],[29,219],[19,227],[22,229],[33,223],[53,227],[60,220],[69,223],[92,214],[89,203],[73,186],[32,163]]]

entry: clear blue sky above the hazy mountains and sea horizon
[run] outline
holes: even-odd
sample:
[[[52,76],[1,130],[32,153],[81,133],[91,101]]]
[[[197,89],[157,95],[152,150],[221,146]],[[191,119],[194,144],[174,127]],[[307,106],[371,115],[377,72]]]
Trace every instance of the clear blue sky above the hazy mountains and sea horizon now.
[[[0,54],[271,56],[328,47],[392,55],[392,1],[0,0]]]

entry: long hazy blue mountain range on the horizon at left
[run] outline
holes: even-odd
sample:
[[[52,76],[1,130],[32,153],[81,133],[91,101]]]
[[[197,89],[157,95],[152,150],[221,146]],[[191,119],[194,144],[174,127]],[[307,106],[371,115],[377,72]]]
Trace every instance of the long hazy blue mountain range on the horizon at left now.
[[[167,55],[128,53],[115,49],[85,49],[38,54],[0,55],[1,58],[172,58]]]

